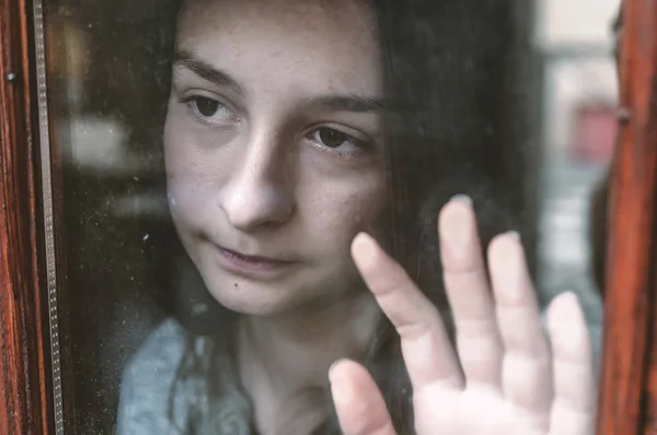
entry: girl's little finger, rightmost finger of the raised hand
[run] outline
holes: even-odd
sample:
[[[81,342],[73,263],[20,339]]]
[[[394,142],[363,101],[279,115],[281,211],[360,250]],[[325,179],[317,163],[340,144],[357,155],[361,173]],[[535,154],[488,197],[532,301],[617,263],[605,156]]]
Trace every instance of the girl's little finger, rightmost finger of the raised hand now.
[[[554,402],[551,434],[592,434],[596,416],[596,378],[591,340],[577,296],[563,293],[548,310],[553,352]]]

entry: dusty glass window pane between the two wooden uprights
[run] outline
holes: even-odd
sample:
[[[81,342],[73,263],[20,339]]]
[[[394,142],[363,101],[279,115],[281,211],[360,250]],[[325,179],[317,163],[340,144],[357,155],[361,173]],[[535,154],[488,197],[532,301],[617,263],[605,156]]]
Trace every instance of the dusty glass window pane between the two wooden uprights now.
[[[400,350],[387,318],[437,313],[460,334],[457,384],[499,392],[516,373],[533,390],[488,409],[544,416],[552,372],[514,351],[550,361],[541,328],[580,337],[568,296],[549,327],[567,291],[597,379],[619,1],[570,3],[45,0],[67,433],[335,433],[344,357],[414,433],[413,367],[448,366],[451,346]],[[392,259],[361,238],[355,267],[360,232]],[[367,290],[390,282],[395,303]],[[537,308],[505,314],[511,287]],[[415,407],[418,433],[447,427]]]

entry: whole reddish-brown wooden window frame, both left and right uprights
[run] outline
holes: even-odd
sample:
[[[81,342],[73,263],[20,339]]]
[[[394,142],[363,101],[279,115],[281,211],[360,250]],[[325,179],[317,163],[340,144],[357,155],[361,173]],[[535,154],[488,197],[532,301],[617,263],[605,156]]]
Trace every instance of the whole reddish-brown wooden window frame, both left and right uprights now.
[[[657,2],[625,0],[598,434],[657,434]],[[33,9],[0,0],[0,434],[53,434]]]

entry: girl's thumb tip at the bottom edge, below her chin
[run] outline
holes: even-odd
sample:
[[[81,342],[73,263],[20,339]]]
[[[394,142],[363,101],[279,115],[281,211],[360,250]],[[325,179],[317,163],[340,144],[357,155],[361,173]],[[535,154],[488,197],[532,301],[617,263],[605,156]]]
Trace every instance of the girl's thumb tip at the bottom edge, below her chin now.
[[[383,397],[369,373],[351,361],[328,372],[331,393],[344,435],[394,435]]]

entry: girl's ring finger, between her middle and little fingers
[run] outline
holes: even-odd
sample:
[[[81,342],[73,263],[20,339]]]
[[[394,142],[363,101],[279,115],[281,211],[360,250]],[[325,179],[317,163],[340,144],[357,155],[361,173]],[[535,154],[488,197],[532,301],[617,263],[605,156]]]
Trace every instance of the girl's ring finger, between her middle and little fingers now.
[[[517,234],[495,237],[488,250],[488,262],[497,322],[505,346],[504,393],[546,426],[552,402],[550,351]]]

